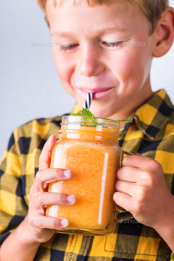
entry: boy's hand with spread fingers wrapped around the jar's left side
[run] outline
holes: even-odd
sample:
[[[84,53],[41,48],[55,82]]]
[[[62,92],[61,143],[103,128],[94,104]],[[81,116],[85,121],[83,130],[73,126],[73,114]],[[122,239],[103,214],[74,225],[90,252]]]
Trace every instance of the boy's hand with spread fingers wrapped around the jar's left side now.
[[[45,143],[39,157],[39,171],[30,189],[29,211],[25,222],[27,222],[27,228],[36,242],[48,241],[54,234],[51,229],[63,229],[69,224],[68,219],[45,216],[46,206],[70,206],[75,204],[77,200],[74,195],[47,192],[49,182],[68,180],[73,177],[70,170],[50,168],[51,152],[55,142],[56,136],[52,135]],[[36,220],[39,222],[36,223]]]

